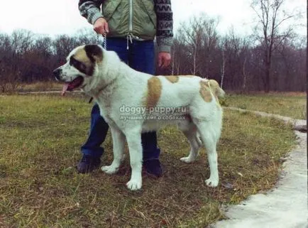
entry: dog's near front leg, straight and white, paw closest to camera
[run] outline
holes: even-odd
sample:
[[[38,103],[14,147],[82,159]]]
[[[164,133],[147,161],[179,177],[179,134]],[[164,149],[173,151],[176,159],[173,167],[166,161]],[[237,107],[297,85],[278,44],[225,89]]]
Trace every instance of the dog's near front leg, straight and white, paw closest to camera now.
[[[129,156],[131,161],[131,180],[126,183],[130,190],[139,190],[142,185],[142,146],[141,131],[130,130],[126,132],[126,141],[128,143]]]

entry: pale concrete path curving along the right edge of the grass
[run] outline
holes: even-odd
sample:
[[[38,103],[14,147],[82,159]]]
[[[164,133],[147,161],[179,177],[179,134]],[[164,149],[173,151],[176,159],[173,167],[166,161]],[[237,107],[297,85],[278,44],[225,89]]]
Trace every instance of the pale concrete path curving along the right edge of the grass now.
[[[236,109],[236,108],[229,108]],[[240,112],[247,110],[236,109]],[[290,117],[254,112],[290,121],[295,126],[307,121]],[[276,188],[266,194],[248,197],[240,205],[226,209],[229,219],[216,222],[216,228],[308,228],[307,210],[307,134],[295,131],[298,146],[282,165]]]

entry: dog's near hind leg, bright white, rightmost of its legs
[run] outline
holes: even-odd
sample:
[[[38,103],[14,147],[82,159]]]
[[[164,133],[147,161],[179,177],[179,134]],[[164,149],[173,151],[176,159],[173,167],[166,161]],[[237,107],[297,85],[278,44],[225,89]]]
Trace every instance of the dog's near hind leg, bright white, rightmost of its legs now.
[[[219,183],[216,153],[216,144],[219,138],[219,131],[215,129],[214,124],[211,124],[207,121],[199,121],[199,123],[197,124],[197,128],[201,136],[202,142],[207,149],[207,158],[209,160],[210,176],[209,179],[205,180],[205,183],[207,183],[207,185],[210,187],[216,187]]]

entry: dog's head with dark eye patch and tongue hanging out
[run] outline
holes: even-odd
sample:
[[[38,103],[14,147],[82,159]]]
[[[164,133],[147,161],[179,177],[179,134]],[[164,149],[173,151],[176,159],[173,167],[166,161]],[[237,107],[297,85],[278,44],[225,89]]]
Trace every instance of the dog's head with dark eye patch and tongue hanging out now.
[[[65,82],[62,94],[89,84],[102,59],[103,50],[99,45],[82,45],[72,50],[67,56],[67,63],[53,71],[56,80]]]

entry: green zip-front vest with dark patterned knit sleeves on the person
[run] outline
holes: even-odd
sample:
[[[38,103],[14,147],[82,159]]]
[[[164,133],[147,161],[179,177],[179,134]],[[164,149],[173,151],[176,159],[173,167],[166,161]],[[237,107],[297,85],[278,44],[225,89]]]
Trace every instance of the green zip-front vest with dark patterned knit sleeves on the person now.
[[[143,40],[156,37],[158,51],[170,52],[173,36],[170,0],[79,0],[79,11],[91,24],[104,17],[109,37],[131,35]]]

